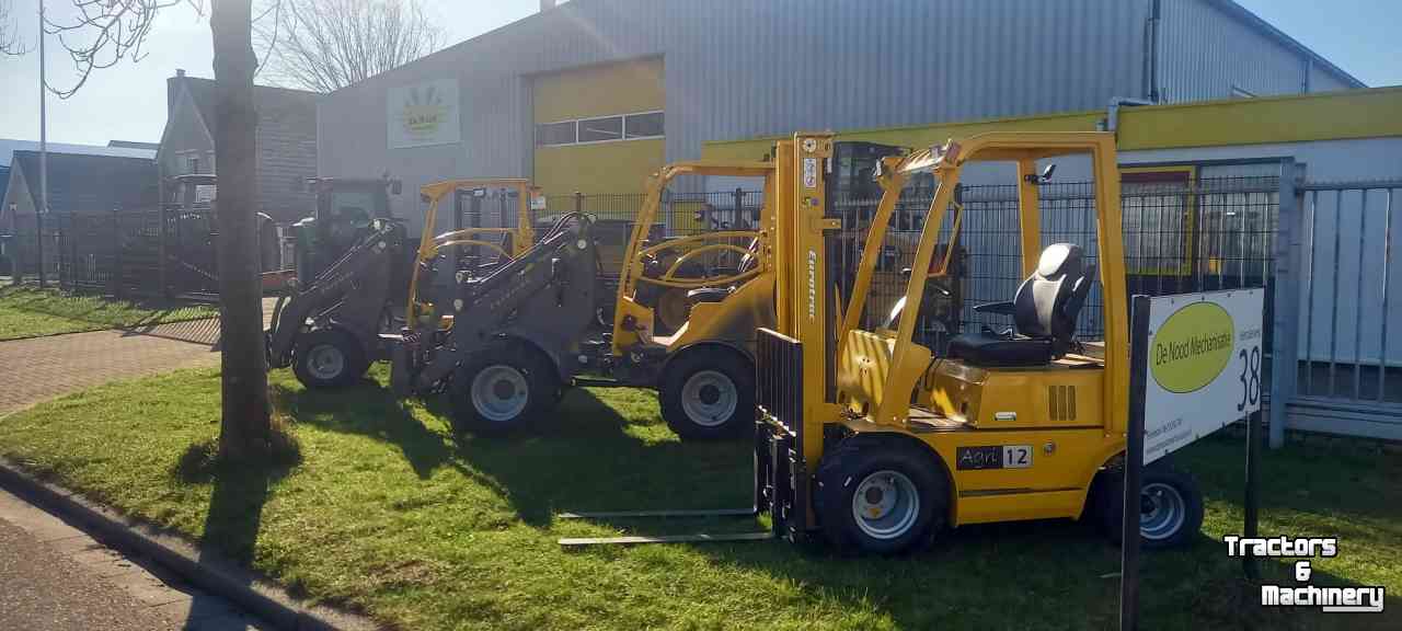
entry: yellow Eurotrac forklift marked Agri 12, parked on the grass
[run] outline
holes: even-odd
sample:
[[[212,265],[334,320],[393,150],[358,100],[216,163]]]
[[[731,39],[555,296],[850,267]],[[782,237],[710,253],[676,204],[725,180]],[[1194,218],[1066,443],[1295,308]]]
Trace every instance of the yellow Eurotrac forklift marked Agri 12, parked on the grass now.
[[[892,554],[946,526],[1094,516],[1116,537],[1130,341],[1113,136],[998,132],[883,158],[885,194],[850,296],[836,296],[826,259],[840,222],[822,178],[809,175],[831,151],[830,135],[798,135],[778,156],[792,164],[780,170],[784,212],[768,226],[781,300],[756,355],[756,508],[771,513],[773,534],[820,531],[843,550]],[[1037,161],[1068,156],[1092,164],[1096,261],[1089,244],[1043,247],[1039,186],[1050,174],[1039,174]],[[904,181],[930,172],[938,182],[911,265],[938,271],[938,252],[958,238],[958,222],[946,223],[955,188],[980,161],[1018,170],[1015,247],[1026,279],[1008,301],[976,307],[1009,316],[1012,328],[956,335],[938,358],[913,339],[916,308],[899,310],[889,328],[864,328]],[[1103,339],[1082,339],[1077,321],[1095,282]],[[901,304],[921,304],[925,290],[911,278]],[[1196,482],[1164,461],[1144,470],[1140,503],[1145,547],[1185,543],[1202,524]]]

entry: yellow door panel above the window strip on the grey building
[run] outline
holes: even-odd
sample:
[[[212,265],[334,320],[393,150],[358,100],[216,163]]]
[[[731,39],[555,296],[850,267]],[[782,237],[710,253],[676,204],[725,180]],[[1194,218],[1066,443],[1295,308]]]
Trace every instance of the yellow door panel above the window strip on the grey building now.
[[[543,74],[534,80],[531,100],[537,123],[663,109],[662,59]]]

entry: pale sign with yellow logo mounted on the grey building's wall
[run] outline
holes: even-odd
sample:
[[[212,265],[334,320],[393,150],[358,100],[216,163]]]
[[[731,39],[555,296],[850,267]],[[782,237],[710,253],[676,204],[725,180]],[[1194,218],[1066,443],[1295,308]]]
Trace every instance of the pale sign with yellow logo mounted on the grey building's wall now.
[[[386,95],[390,149],[460,142],[458,107],[456,79],[390,88]]]

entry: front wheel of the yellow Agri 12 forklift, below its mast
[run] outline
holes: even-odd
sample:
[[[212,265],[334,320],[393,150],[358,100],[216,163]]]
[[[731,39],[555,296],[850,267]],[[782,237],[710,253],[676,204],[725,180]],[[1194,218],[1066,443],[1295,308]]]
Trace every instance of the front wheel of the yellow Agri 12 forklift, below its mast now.
[[[823,457],[815,499],[823,534],[838,551],[900,554],[944,530],[949,482],[928,450],[901,437],[862,435]],[[859,520],[858,510],[883,513]]]

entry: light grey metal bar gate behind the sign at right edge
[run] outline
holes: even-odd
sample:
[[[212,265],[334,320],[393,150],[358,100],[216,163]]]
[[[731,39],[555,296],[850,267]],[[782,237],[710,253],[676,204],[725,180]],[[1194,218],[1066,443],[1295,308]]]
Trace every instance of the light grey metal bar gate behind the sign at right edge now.
[[[1281,318],[1298,331],[1283,383],[1290,428],[1402,439],[1399,189],[1402,181],[1298,185],[1298,217],[1283,226],[1300,236],[1295,308]]]

